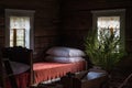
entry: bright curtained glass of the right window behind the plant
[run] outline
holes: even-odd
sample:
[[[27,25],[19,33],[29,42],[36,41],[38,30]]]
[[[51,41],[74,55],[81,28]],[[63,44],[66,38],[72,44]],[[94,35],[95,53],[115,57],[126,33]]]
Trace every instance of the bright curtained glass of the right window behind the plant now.
[[[120,37],[120,16],[99,16],[97,21],[98,40],[100,43],[107,41],[107,38],[113,35],[114,42]],[[107,36],[107,38],[106,38]],[[116,51],[119,50],[119,45],[116,46]]]

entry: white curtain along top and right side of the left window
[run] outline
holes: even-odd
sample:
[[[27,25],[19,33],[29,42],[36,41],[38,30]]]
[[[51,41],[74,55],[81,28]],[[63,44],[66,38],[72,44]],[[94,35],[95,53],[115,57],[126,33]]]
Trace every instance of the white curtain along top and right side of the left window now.
[[[30,18],[10,16],[10,29],[25,29],[25,47],[30,48]]]

